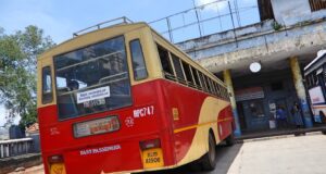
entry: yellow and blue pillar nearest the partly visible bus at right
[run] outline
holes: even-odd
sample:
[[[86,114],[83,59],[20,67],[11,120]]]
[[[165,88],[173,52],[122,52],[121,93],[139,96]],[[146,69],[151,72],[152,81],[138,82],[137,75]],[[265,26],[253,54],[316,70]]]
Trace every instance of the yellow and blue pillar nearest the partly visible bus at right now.
[[[303,114],[303,122],[305,127],[312,127],[312,120],[309,110],[309,104],[306,102],[305,88],[302,82],[302,75],[300,71],[300,65],[297,57],[290,58],[290,66],[293,76],[293,83],[297,90],[298,98],[300,100],[300,105]]]

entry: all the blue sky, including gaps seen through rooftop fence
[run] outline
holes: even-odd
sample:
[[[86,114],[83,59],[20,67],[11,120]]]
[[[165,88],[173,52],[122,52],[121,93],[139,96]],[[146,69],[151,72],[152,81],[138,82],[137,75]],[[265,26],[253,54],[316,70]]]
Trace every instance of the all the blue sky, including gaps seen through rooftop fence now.
[[[195,3],[200,5],[212,1],[214,0],[195,0]],[[228,4],[225,0],[222,1],[200,10],[199,17],[205,18],[217,13],[226,13]],[[234,0],[230,2],[233,5]],[[240,8],[246,9],[246,7],[256,5],[256,0],[238,0],[238,3]],[[28,25],[36,25],[42,28],[54,42],[60,44],[72,38],[73,33],[77,30],[111,18],[127,16],[134,22],[152,22],[190,8],[193,8],[193,0],[1,0],[0,27],[7,34],[13,34]],[[240,18],[241,25],[259,21],[256,9],[243,10],[240,16],[243,16]],[[174,16],[171,18],[172,27],[191,23],[193,20],[196,20],[195,12]],[[238,25],[237,22],[236,25]],[[158,22],[153,24],[153,27],[159,32],[164,32],[166,21]],[[212,21],[211,24],[206,23],[201,27],[203,34],[229,29],[230,16],[221,17],[217,22]],[[189,39],[190,34],[193,33],[199,33],[198,26],[188,30],[176,30],[173,34],[173,41]],[[4,123],[4,109],[0,107],[0,126]]]

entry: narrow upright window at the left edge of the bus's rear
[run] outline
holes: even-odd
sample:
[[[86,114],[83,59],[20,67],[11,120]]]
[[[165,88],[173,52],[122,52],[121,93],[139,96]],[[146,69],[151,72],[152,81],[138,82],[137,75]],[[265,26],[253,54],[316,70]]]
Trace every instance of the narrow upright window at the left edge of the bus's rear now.
[[[50,103],[52,99],[51,67],[46,66],[42,69],[42,103]]]

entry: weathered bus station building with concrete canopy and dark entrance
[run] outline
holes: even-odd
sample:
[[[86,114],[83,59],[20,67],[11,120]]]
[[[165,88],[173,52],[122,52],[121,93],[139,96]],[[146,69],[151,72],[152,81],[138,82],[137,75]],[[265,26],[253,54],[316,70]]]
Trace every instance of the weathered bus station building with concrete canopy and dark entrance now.
[[[236,135],[275,128],[275,111],[300,103],[305,127],[313,120],[303,67],[326,46],[326,3],[314,0],[258,0],[261,22],[176,44],[225,80],[231,94]],[[252,63],[261,65],[250,71]],[[276,127],[277,128],[277,127]]]

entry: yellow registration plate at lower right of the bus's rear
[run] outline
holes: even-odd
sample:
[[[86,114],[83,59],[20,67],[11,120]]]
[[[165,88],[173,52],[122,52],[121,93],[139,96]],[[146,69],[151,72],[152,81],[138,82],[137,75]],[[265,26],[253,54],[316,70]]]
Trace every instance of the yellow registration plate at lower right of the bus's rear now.
[[[155,148],[142,151],[142,164],[145,169],[164,166],[162,149]]]

